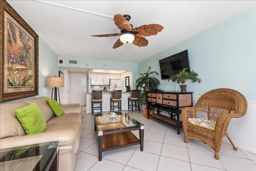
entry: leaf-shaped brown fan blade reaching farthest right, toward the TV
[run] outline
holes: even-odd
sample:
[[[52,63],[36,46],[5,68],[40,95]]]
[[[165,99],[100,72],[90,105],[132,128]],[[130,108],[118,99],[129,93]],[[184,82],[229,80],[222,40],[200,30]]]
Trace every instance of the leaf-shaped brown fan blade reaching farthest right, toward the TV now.
[[[156,34],[158,34],[159,32],[161,32],[164,27],[161,26],[160,24],[148,24],[148,25],[142,25],[138,28],[134,28],[136,29],[136,31],[138,31],[139,33],[136,34],[138,36],[154,36]],[[133,29],[133,30],[134,30]]]

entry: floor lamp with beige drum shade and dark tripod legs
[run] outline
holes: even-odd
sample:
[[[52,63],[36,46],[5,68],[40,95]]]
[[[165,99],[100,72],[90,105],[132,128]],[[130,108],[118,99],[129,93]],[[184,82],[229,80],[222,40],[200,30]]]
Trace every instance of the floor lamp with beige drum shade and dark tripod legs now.
[[[59,87],[64,87],[64,78],[63,77],[47,77],[46,86],[52,87],[52,95],[54,92],[54,100],[57,100],[57,95],[59,96],[60,103],[60,92]],[[57,91],[58,90],[58,91]]]

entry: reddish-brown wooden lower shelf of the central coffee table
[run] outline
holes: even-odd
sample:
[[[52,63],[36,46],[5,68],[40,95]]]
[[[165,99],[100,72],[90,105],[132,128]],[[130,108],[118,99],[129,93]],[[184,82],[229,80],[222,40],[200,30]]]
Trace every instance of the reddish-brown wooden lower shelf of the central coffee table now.
[[[112,133],[103,135],[102,151],[108,151],[137,144],[140,144],[140,140],[131,131]]]

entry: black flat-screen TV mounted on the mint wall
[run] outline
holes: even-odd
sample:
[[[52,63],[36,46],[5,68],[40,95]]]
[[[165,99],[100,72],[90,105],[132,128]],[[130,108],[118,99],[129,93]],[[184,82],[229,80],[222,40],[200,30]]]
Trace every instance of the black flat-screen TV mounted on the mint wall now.
[[[184,50],[178,54],[159,60],[159,64],[162,80],[168,79],[169,76],[178,74],[180,70],[183,70],[184,68],[188,68],[186,72],[190,72],[188,50]]]

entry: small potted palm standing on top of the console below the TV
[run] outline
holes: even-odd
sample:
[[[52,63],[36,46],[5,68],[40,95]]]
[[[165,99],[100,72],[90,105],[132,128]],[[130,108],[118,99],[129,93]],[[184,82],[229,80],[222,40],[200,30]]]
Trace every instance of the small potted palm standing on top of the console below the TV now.
[[[177,84],[180,84],[180,91],[185,91],[186,92],[186,87],[185,85],[187,80],[191,80],[192,83],[198,82],[201,83],[202,80],[198,78],[198,74],[194,71],[191,72],[186,72],[188,68],[184,68],[183,70],[180,71],[179,74],[175,74],[173,76],[170,76],[168,79],[168,82],[176,82]]]

